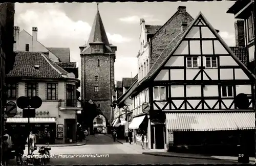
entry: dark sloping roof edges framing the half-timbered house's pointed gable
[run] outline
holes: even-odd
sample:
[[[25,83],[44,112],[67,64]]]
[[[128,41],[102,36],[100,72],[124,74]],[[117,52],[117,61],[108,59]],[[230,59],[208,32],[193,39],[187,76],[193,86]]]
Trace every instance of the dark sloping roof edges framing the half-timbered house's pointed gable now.
[[[180,37],[177,36],[176,37],[176,41],[173,41],[173,43],[170,43],[170,45],[168,45],[170,48],[173,48],[170,50],[170,52],[168,53],[168,56],[162,61],[162,63],[160,65],[158,65],[156,67],[155,70],[152,70],[150,76],[147,78],[147,80],[150,80],[151,78],[153,78],[153,76],[159,72],[159,70],[161,69],[161,66],[165,65],[166,62],[169,60],[170,57],[172,57],[172,54],[176,51],[176,49],[178,48],[178,46],[180,45],[180,43],[182,42],[182,39],[190,32],[191,28],[195,25],[195,23],[198,23],[200,21],[200,19],[202,19],[206,26],[210,29],[210,31],[216,36],[217,39],[219,39],[220,43],[223,45],[223,47],[225,48],[225,50],[232,56],[232,58],[241,66],[241,68],[243,69],[243,71],[247,74],[247,76],[250,79],[255,79],[255,76],[247,69],[247,67],[239,60],[239,58],[231,51],[231,49],[228,47],[228,45],[224,42],[224,40],[221,38],[221,36],[217,33],[217,31],[214,29],[214,27],[212,27],[210,25],[210,23],[208,22],[208,20],[204,17],[204,15],[200,12],[198,14],[198,16],[196,17],[196,19],[190,23],[189,28],[187,28],[187,30],[185,32],[183,32]],[[172,46],[174,45],[174,46]],[[167,47],[166,47],[167,48]],[[141,84],[142,82],[140,82]]]

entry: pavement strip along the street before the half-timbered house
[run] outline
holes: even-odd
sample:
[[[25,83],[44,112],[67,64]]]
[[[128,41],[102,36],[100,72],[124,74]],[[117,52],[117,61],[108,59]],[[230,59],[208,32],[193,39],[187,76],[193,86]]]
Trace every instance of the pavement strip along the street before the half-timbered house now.
[[[210,160],[232,160],[238,161],[238,157],[233,156],[206,156],[200,154],[190,153],[176,153],[176,152],[143,152],[142,154],[153,155],[153,156],[164,156],[164,157],[181,157],[181,158],[195,158],[195,159],[210,159]],[[249,157],[251,162],[255,162],[255,158]]]

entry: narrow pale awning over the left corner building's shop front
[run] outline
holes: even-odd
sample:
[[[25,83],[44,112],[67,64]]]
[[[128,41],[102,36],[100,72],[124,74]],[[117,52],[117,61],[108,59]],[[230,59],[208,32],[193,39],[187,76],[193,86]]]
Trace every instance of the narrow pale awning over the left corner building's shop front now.
[[[56,123],[56,117],[30,117],[30,123]],[[6,123],[28,123],[28,118],[7,117]]]

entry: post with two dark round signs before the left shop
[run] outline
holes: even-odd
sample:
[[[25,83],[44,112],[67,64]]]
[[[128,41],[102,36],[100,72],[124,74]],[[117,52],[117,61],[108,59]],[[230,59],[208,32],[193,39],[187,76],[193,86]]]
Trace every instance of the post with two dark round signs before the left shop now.
[[[39,108],[42,105],[42,100],[38,96],[34,96],[31,98],[22,96],[17,99],[16,103],[20,109],[23,109],[23,117],[28,118],[28,131],[29,131],[29,133],[28,133],[28,154],[30,154],[29,153],[30,152],[29,151],[29,148],[30,148],[30,138],[29,138],[30,121],[29,121],[29,118],[35,117],[35,109]],[[34,108],[34,109],[30,109],[30,107]],[[28,108],[28,109],[25,109],[25,108]]]

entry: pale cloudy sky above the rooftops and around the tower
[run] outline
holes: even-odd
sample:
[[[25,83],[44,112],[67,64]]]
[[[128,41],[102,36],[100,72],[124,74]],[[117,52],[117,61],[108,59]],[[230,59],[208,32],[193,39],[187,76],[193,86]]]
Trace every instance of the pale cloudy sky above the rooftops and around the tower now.
[[[99,3],[99,12],[108,39],[117,46],[115,80],[137,74],[140,18],[146,25],[164,25],[177,11],[186,11],[195,18],[201,11],[206,19],[220,30],[219,34],[229,46],[235,45],[234,16],[226,11],[234,2],[153,2],[153,3]],[[78,62],[79,46],[89,38],[97,11],[96,3],[15,3],[14,25],[32,34],[38,28],[38,41],[47,47],[70,48],[71,61]]]

